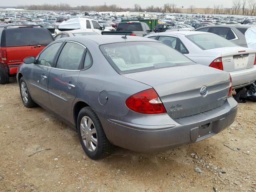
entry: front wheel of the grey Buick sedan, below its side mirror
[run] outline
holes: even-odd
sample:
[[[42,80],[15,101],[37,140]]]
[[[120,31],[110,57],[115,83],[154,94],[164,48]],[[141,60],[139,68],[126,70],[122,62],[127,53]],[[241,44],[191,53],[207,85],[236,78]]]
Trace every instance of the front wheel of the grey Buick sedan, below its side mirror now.
[[[34,106],[36,106],[36,103],[32,100],[30,93],[28,91],[28,86],[24,80],[24,78],[20,78],[20,96],[21,96],[21,100],[23,102],[23,105],[26,108],[32,108]]]

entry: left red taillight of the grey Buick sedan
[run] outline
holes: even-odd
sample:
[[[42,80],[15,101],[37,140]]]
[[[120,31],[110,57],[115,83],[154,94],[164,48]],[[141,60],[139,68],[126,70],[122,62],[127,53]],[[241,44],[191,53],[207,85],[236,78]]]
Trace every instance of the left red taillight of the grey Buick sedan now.
[[[164,105],[162,104],[156,91],[151,88],[138,92],[130,96],[126,102],[126,106],[135,112],[143,114],[160,114],[166,113]]]

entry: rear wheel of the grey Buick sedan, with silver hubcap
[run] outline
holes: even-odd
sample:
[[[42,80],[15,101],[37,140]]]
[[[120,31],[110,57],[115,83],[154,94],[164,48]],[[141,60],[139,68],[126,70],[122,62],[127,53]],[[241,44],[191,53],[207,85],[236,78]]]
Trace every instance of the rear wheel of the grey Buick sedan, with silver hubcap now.
[[[93,160],[108,156],[112,144],[108,141],[96,113],[90,107],[80,110],[77,119],[78,138],[86,155]]]

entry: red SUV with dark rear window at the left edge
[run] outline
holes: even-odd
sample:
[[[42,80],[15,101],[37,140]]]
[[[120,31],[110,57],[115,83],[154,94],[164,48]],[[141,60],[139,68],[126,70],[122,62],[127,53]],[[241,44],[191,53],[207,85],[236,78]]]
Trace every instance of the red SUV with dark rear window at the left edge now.
[[[39,26],[6,26],[0,28],[0,84],[15,76],[18,66],[28,56],[37,56],[54,41],[52,34]]]

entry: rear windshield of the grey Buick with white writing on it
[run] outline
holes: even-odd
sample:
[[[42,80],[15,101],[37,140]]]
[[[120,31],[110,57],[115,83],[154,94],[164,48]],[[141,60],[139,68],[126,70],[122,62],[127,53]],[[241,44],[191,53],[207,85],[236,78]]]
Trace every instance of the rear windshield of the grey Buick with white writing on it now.
[[[100,46],[105,58],[119,73],[132,73],[195,64],[160,42],[121,42]]]

